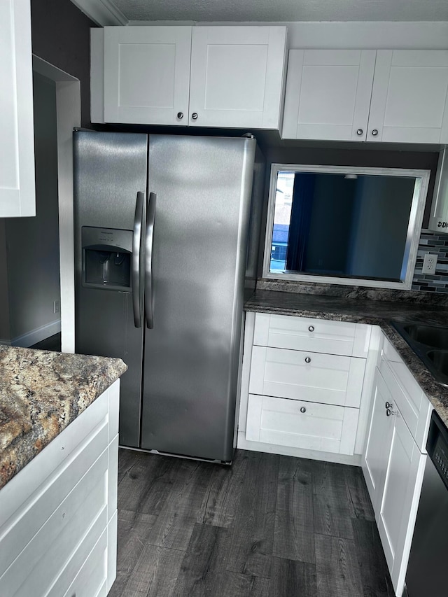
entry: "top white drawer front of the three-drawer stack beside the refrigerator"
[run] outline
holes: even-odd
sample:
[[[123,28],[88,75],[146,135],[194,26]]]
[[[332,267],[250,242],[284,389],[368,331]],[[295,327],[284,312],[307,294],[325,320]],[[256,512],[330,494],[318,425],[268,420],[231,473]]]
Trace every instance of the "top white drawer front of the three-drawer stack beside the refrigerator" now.
[[[257,313],[253,344],[366,358],[370,325]]]

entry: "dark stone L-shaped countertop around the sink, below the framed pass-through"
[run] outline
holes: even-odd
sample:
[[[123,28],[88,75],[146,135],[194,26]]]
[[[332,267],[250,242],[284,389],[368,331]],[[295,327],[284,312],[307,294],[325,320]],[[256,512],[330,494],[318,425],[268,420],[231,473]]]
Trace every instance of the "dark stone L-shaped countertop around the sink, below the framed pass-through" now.
[[[244,304],[246,311],[351,321],[379,325],[405,361],[433,407],[448,427],[448,388],[437,383],[434,377],[400,334],[392,327],[391,321],[421,322],[448,326],[448,303],[445,297],[434,297],[433,302],[407,302],[398,295],[397,300],[370,300],[365,294],[352,297],[337,293],[318,295],[311,293],[281,292],[279,290],[255,290]],[[416,300],[417,294],[411,298]],[[425,293],[426,296],[428,293]],[[388,297],[390,298],[390,297]]]

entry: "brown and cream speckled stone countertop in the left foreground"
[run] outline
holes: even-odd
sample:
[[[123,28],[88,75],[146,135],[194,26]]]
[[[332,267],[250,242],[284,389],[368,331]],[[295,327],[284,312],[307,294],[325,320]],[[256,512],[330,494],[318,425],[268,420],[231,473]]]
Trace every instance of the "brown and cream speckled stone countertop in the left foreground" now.
[[[126,370],[118,358],[0,346],[0,488]]]

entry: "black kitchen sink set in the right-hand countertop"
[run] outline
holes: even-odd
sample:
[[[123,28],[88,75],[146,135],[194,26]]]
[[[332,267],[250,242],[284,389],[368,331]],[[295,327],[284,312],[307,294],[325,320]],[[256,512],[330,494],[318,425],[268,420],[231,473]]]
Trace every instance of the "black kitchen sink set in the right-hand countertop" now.
[[[398,321],[391,323],[436,381],[448,386],[448,327]]]

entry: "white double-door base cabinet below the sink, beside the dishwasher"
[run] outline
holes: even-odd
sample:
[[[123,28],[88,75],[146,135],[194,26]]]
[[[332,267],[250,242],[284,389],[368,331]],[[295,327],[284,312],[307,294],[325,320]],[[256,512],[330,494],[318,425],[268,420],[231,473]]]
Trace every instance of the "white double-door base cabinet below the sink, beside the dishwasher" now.
[[[416,381],[409,384],[409,370],[397,366],[398,354],[387,340],[374,379],[372,411],[363,454],[363,472],[377,521],[395,594],[402,595],[409,549],[419,504],[423,470],[426,462],[424,445],[428,435],[430,403],[421,400]],[[392,353],[393,361],[388,361]],[[392,366],[391,366],[392,365]],[[402,383],[402,375],[406,386]],[[408,413],[409,403],[419,410]],[[418,417],[423,434],[409,430]],[[420,442],[421,440],[421,442]]]

